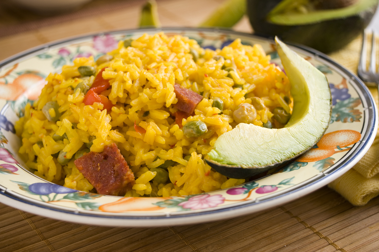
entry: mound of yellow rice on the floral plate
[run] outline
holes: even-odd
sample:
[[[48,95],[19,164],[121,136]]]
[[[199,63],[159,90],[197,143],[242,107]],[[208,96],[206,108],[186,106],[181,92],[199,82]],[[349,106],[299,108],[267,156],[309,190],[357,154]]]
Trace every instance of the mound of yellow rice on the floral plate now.
[[[50,74],[39,99],[25,107],[25,116],[15,127],[22,138],[19,153],[35,175],[93,192],[75,167],[74,156],[95,136],[91,151],[102,152],[114,142],[133,171],[136,184],[125,196],[183,196],[229,188],[245,181],[215,172],[204,158],[218,136],[237,124],[233,111],[259,97],[264,107],[255,110],[252,123],[262,126],[271,122],[278,128],[283,125],[273,120],[273,109],[291,110],[291,102],[286,102],[290,97],[288,79],[270,64],[270,56],[258,44],[243,45],[236,39],[213,51],[202,49],[193,39],[158,33],[144,34],[128,47],[120,41],[108,54],[113,56],[111,61],[97,64],[92,56],[76,58],[73,66],[63,66],[61,74]],[[74,92],[78,83],[86,81],[91,86],[95,78],[80,77],[80,66],[93,66],[97,72],[106,67],[102,76],[110,80],[111,88],[102,94],[114,104],[110,113],[102,110],[101,103],[85,105],[85,94],[80,89]],[[182,120],[182,125],[204,122],[208,131],[203,135],[188,138],[175,122],[175,83],[204,97],[194,114]],[[222,111],[212,107],[217,98],[224,104]],[[56,122],[42,113],[49,101],[59,105],[61,116]],[[135,124],[146,133],[136,131]],[[55,141],[54,134],[66,137]],[[66,165],[57,161],[56,153],[61,150],[67,152],[66,158],[72,158]],[[166,182],[154,179],[157,172],[152,171],[158,166],[168,172]]]

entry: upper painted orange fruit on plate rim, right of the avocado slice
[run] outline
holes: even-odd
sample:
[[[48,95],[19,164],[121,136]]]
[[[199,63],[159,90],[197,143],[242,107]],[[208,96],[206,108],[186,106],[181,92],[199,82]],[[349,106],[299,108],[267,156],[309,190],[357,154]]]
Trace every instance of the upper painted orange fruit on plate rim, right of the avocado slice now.
[[[325,134],[317,143],[319,148],[329,149],[337,146],[346,147],[355,144],[361,138],[361,135],[356,130],[337,130]]]

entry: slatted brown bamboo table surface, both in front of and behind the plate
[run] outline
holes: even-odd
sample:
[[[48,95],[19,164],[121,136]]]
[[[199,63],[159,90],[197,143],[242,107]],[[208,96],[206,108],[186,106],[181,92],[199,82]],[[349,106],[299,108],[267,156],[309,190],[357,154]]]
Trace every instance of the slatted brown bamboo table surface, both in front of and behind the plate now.
[[[196,27],[223,0],[158,0],[163,27]],[[0,2],[0,61],[57,39],[137,28],[137,0],[94,0],[41,16]],[[252,32],[246,18],[234,30]],[[361,38],[329,56],[356,72]],[[354,207],[323,187],[283,206],[197,225],[100,227],[36,216],[0,203],[0,251],[379,251],[379,198]]]

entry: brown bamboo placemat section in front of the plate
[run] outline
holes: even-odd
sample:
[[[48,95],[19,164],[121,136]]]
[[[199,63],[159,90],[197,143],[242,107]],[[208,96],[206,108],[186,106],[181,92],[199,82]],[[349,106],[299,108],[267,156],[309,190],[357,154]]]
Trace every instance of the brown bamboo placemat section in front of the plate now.
[[[353,207],[323,187],[281,207],[198,225],[98,227],[0,203],[0,251],[370,252],[379,250],[379,198]]]

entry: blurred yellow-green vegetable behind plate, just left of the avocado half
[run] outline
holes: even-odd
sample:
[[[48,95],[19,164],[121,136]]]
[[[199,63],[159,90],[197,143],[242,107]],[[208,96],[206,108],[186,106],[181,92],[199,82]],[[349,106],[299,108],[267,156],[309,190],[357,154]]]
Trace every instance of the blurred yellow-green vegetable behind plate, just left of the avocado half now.
[[[246,0],[226,0],[199,27],[232,27],[245,12]]]

